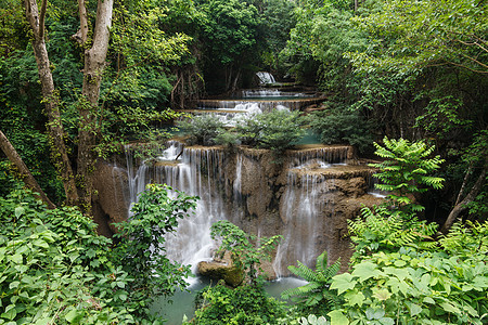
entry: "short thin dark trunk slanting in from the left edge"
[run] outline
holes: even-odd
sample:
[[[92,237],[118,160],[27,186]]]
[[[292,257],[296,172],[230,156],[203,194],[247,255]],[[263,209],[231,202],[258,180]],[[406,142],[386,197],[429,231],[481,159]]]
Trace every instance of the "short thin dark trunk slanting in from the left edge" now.
[[[54,209],[56,206],[48,198],[46,193],[41,190],[39,184],[37,183],[36,179],[30,173],[30,170],[27,168],[27,166],[24,164],[24,160],[22,160],[22,157],[17,154],[17,151],[14,148],[12,143],[10,143],[9,139],[7,139],[5,134],[3,134],[2,131],[0,131],[0,148],[3,151],[3,153],[7,155],[9,160],[15,165],[15,167],[18,169],[22,176],[22,180],[26,184],[27,187],[33,190],[34,192],[38,193],[38,195],[35,195],[38,199],[41,199],[48,208]]]

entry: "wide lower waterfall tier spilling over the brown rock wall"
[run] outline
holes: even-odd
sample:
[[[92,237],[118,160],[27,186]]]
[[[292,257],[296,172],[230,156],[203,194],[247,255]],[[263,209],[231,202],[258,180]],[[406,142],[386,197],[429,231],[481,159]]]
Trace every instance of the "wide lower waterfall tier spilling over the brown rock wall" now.
[[[211,258],[209,229],[223,219],[247,232],[283,236],[268,268],[278,276],[287,275],[287,265],[297,260],[313,265],[323,250],[337,258],[349,246],[339,235],[347,229],[346,219],[359,211],[363,197],[374,198],[367,194],[373,169],[346,165],[352,155],[349,146],[287,151],[282,165],[273,164],[266,150],[239,147],[231,153],[169,142],[156,162],[134,168],[130,152],[132,203],[149,182],[201,197],[196,213],[180,221],[166,247],[168,258],[193,268]]]

